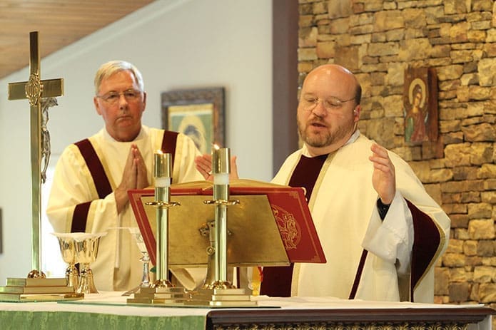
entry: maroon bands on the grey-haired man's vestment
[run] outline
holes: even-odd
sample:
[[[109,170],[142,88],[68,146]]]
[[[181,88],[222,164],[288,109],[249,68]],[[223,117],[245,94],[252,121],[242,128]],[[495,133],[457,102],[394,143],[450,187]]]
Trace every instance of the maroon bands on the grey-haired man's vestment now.
[[[178,133],[166,130],[163,133],[161,150],[163,153],[171,153],[172,166],[174,165],[174,156],[176,154],[176,141]],[[96,155],[96,151],[91,145],[90,140],[84,139],[79,142],[74,143],[78,148],[79,152],[83,156],[86,166],[91,173],[91,178],[96,187],[96,192],[98,192],[98,198],[104,198],[106,195],[112,192],[112,187],[108,176],[103,169],[100,158]],[[86,222],[88,220],[88,212],[91,205],[91,200],[88,202],[83,202],[74,207],[74,213],[72,215],[71,232],[85,232]]]

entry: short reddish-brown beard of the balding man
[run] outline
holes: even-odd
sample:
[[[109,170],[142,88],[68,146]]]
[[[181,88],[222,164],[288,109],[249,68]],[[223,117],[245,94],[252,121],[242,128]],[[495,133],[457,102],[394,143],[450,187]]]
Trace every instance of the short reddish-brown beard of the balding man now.
[[[338,143],[348,135],[353,134],[353,130],[355,128],[355,122],[353,122],[353,120],[346,122],[344,125],[338,126],[338,128],[334,131],[331,130],[331,128],[327,128],[327,130],[320,130],[319,132],[313,131],[312,124],[324,123],[321,119],[315,118],[313,120],[308,120],[306,124],[303,124],[300,120],[297,120],[297,123],[298,133],[300,133],[301,139],[313,148],[323,148],[333,145],[334,143]]]

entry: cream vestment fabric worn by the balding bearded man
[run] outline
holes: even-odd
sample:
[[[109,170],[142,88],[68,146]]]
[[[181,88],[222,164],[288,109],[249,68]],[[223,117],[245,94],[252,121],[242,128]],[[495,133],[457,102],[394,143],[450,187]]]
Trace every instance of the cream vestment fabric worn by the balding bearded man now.
[[[392,152],[389,155],[395,165],[397,192],[384,220],[380,220],[378,194],[372,185],[373,164],[368,159],[373,141],[359,133],[355,136],[356,140],[325,161],[309,201],[327,263],[295,264],[291,293],[348,299],[356,278],[355,299],[432,302],[433,267],[447,247],[450,220],[427,195],[410,166]],[[273,182],[287,185],[302,154],[308,155],[305,146],[285,160]],[[408,202],[420,210],[415,218],[424,215],[427,225],[432,225],[437,241],[427,233],[422,237],[420,230],[415,233]],[[423,240],[435,242],[431,254],[422,254]],[[420,243],[415,260],[424,257],[420,264],[425,269],[415,266],[413,299],[408,287],[406,293],[400,292],[398,278],[410,275],[414,242]],[[360,272],[364,249],[367,253]]]

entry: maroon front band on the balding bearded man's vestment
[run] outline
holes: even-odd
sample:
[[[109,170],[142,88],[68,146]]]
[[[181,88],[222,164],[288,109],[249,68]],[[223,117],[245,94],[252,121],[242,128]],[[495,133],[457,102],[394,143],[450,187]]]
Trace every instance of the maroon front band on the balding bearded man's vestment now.
[[[309,200],[320,170],[327,158],[328,155],[320,155],[314,158],[302,155],[291,175],[289,185],[291,187],[305,187],[305,197]],[[285,267],[263,267],[260,294],[270,297],[290,297],[292,277],[293,264]]]

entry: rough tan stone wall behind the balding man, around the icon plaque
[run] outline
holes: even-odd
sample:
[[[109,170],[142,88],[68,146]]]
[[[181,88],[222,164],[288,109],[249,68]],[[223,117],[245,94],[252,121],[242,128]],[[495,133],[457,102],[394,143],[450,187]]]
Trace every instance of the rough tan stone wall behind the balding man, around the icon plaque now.
[[[495,1],[299,0],[299,13],[300,87],[323,63],[353,71],[363,87],[360,130],[408,160],[452,220],[435,301],[495,308]],[[437,71],[435,148],[405,143],[408,66]]]

